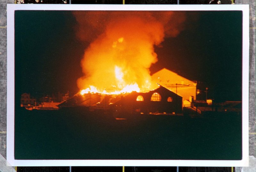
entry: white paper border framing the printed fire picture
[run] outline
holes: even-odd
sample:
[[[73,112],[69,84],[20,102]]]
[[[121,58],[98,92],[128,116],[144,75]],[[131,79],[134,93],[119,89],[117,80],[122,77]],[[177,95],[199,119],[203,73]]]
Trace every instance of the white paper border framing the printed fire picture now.
[[[54,11],[243,11],[242,160],[16,160],[14,159],[14,12]],[[215,166],[249,165],[249,5],[7,4],[7,161],[11,166]]]

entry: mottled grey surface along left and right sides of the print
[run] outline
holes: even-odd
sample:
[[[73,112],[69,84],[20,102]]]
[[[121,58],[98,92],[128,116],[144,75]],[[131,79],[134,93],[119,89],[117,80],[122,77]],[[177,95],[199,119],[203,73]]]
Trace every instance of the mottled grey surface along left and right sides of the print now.
[[[0,1],[0,154],[6,158],[6,4]],[[255,0],[236,0],[236,4],[250,4],[250,87],[249,87],[249,154],[255,157]],[[241,171],[241,168],[236,168]]]

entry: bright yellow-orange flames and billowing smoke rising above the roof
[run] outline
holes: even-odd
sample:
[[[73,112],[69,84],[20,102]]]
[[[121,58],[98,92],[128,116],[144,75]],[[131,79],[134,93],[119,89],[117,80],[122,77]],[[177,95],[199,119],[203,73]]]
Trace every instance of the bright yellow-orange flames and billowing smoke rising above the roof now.
[[[160,45],[164,36],[176,36],[185,19],[183,13],[178,14],[177,22],[174,12],[148,11],[91,11],[85,12],[84,18],[79,12],[74,15],[78,37],[90,41],[81,61],[84,76],[77,80],[80,94],[156,89],[149,70],[157,62],[154,46]]]

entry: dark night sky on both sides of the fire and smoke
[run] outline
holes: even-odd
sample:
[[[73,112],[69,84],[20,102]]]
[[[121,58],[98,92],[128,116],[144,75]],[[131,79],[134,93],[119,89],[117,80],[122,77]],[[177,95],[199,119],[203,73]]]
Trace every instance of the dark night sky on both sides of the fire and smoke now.
[[[152,73],[168,68],[207,83],[209,98],[241,100],[242,12],[188,11],[185,29],[155,47]],[[89,45],[76,38],[70,11],[15,11],[15,96],[78,92]]]

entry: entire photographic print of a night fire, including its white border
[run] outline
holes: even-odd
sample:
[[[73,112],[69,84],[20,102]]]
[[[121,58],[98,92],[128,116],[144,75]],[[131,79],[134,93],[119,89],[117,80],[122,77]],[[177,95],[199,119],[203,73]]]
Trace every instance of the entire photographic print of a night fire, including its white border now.
[[[7,160],[246,164],[248,6],[190,7],[8,5]]]

